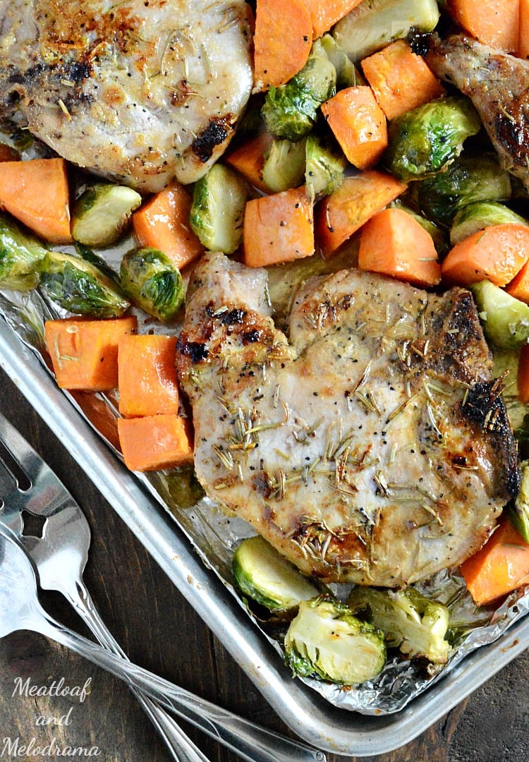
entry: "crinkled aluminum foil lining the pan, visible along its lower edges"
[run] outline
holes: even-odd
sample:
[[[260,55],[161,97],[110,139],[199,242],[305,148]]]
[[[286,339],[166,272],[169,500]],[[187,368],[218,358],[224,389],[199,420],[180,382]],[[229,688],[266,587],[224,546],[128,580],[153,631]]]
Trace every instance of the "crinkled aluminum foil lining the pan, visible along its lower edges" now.
[[[116,264],[122,254],[122,250],[114,251],[114,263],[111,256],[110,264]],[[47,302],[38,290],[30,293],[0,291],[0,313],[21,341],[37,354],[43,365],[43,373],[50,373],[43,342],[44,321],[63,317],[66,313]],[[171,332],[171,329],[157,325],[143,313],[138,313],[138,318],[140,333]],[[178,332],[178,327],[172,330]],[[112,424],[117,418],[116,400],[100,393],[65,394],[104,438],[108,447],[121,458],[115,447],[116,439],[111,434]],[[203,497],[190,503],[186,498],[189,491],[181,489],[182,481],[188,479],[188,476],[178,471],[137,475],[188,536],[204,563],[223,581],[226,591],[236,597],[252,618],[255,627],[260,629],[262,636],[271,642],[283,658],[281,626],[270,620],[260,620],[245,605],[233,585],[233,551],[241,539],[255,534],[255,531],[239,517],[227,516],[208,498]],[[466,591],[463,578],[453,570],[441,571],[428,580],[415,584],[415,587],[428,597],[447,605],[450,610],[449,638],[452,651],[447,664],[439,667],[418,658],[403,658],[402,655],[389,653],[380,675],[375,680],[358,686],[341,687],[312,677],[298,679],[340,709],[377,716],[399,712],[415,696],[431,689],[440,677],[454,669],[470,652],[499,639],[509,626],[529,612],[529,587],[515,591],[499,607],[476,608]],[[350,587],[345,585],[332,587],[332,592],[341,598],[345,598],[349,590]]]

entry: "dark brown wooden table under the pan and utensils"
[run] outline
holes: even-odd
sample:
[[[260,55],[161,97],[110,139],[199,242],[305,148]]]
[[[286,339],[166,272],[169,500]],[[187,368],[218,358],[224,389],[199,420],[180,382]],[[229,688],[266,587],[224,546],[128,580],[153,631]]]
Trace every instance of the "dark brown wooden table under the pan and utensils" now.
[[[92,530],[85,581],[130,658],[242,716],[292,735],[1,372],[0,410],[82,505]],[[46,594],[45,604],[59,620],[88,635],[61,597]],[[50,687],[53,681],[58,685],[61,680],[63,687],[82,687],[89,680],[91,690],[82,703],[77,696],[20,695],[17,687],[28,678],[37,687]],[[371,758],[379,762],[527,760],[528,685],[529,655],[522,655],[411,744]],[[43,725],[45,720],[50,724]],[[238,759],[191,726],[185,729],[211,762]],[[14,746],[17,738],[18,746]],[[53,738],[59,748],[68,745],[92,749],[92,753],[97,748],[98,758],[105,762],[168,762],[172,758],[120,680],[43,636],[18,632],[0,641],[0,759],[10,757],[9,742],[11,757],[16,748],[18,756],[23,756],[21,747],[33,738],[33,749],[45,747]],[[26,755],[30,756],[28,751]],[[346,759],[332,754],[327,758],[329,762]]]

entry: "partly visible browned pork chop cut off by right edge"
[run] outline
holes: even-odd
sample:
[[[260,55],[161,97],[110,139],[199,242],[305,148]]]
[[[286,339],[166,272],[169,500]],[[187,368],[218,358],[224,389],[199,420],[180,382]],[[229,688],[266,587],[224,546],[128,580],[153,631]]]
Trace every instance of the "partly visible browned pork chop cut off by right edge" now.
[[[529,62],[464,34],[431,35],[426,60],[471,98],[502,166],[529,191]]]

